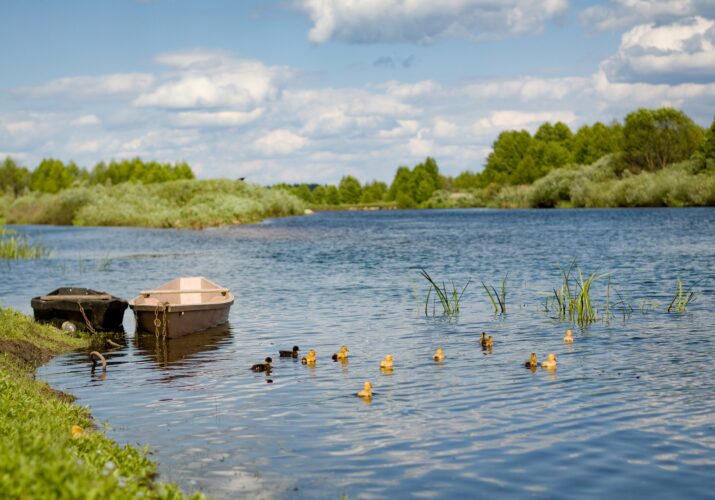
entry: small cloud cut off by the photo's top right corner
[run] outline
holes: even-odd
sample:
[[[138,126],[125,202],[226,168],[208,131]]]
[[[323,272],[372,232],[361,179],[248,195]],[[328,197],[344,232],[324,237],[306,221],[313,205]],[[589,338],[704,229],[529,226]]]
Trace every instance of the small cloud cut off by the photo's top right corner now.
[[[615,30],[635,24],[672,21],[687,16],[714,16],[712,0],[610,0],[592,5],[581,20],[597,30]]]

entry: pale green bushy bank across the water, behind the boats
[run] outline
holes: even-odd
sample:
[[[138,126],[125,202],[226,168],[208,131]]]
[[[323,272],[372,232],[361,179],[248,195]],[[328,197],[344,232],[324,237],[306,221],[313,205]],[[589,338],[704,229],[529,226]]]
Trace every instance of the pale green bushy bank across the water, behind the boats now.
[[[280,189],[215,179],[30,192],[5,211],[9,224],[201,228],[298,215],[304,203]]]

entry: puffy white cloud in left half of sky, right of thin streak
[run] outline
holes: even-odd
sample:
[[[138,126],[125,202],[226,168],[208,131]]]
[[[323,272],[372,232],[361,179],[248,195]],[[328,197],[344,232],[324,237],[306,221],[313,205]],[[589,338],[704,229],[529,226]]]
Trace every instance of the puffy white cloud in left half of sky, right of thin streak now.
[[[249,110],[274,99],[289,76],[283,67],[236,59],[219,51],[162,54],[157,62],[173,69],[161,83],[142,93],[134,104],[157,108],[218,108]]]

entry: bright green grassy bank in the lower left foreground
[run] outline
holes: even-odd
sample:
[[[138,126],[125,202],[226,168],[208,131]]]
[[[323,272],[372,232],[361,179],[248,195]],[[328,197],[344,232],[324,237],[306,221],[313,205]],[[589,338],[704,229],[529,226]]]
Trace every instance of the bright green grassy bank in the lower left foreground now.
[[[0,491],[3,498],[182,498],[154,481],[146,452],[120,447],[72,397],[34,380],[53,355],[89,347],[0,308]]]

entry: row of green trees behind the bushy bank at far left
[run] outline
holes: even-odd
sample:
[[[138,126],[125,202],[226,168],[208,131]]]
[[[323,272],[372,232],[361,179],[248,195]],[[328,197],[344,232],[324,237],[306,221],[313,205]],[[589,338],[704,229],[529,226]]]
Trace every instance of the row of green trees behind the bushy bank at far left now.
[[[46,158],[32,171],[6,157],[0,164],[0,194],[15,196],[27,191],[57,193],[80,184],[115,185],[123,182],[153,184],[178,179],[194,179],[194,172],[186,162],[160,163],[141,158],[99,162],[92,170],[74,162]]]

